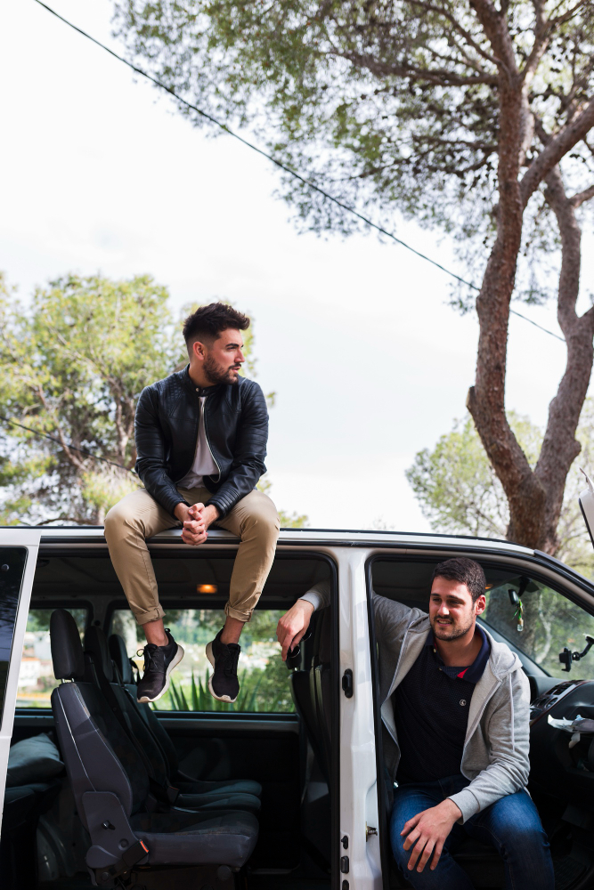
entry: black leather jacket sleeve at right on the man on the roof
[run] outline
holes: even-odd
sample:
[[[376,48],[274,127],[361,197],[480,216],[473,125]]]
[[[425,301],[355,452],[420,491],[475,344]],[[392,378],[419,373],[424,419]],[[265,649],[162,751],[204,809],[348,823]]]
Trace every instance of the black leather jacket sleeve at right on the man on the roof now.
[[[225,516],[241,498],[256,488],[260,476],[266,472],[264,457],[268,441],[268,410],[264,392],[251,381],[241,405],[240,429],[235,441],[233,462],[229,475],[220,489],[207,500]]]

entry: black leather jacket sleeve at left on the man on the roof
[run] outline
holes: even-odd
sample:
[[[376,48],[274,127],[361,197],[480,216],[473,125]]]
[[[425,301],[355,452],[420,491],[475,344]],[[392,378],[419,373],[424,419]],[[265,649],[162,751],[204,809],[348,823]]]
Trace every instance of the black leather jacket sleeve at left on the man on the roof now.
[[[136,405],[134,441],[137,455],[135,469],[144,488],[167,513],[175,517],[175,506],[187,502],[175,488],[165,469],[165,437],[150,387],[142,390]]]

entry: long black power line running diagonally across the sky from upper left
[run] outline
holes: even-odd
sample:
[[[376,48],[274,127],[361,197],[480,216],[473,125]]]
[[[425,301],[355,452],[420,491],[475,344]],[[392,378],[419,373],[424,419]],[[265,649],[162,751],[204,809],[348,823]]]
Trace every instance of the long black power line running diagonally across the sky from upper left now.
[[[106,53],[110,53],[110,55],[112,55],[114,57],[114,59],[117,59],[118,61],[123,62],[125,65],[128,66],[128,68],[135,71],[136,74],[140,74],[142,77],[146,77],[147,80],[151,81],[151,83],[155,84],[156,86],[159,86],[160,89],[165,90],[166,93],[169,93],[170,95],[172,95],[178,102],[182,102],[182,104],[185,105],[186,108],[189,108],[192,111],[196,111],[196,113],[199,114],[200,117],[204,117],[206,120],[210,121],[211,124],[215,124],[221,130],[224,130],[224,132],[226,134],[229,134],[234,139],[237,139],[237,140],[239,140],[239,142],[242,142],[244,145],[246,145],[248,147],[248,149],[251,149],[252,151],[256,151],[259,155],[262,155],[263,158],[266,158],[267,160],[272,161],[274,165],[278,166],[281,170],[283,170],[285,173],[288,173],[290,176],[295,177],[295,179],[297,179],[299,182],[303,182],[304,185],[306,185],[309,189],[312,189],[313,191],[317,191],[318,194],[320,194],[323,198],[326,198],[326,200],[329,200],[333,204],[336,204],[342,210],[346,210],[347,213],[353,214],[354,216],[356,216],[357,219],[361,220],[362,223],[365,223],[365,225],[370,226],[371,229],[375,229],[376,231],[380,232],[382,235],[386,235],[387,238],[395,241],[395,243],[399,244],[401,247],[406,247],[406,249],[410,250],[411,253],[419,256],[421,260],[426,260],[427,263],[431,263],[437,269],[440,269],[441,271],[445,272],[446,275],[450,275],[453,279],[460,281],[460,284],[463,284],[466,287],[470,287],[472,290],[476,290],[476,291],[480,290],[480,287],[477,287],[476,284],[473,284],[471,281],[467,281],[466,279],[461,278],[460,275],[456,274],[456,272],[452,272],[450,269],[446,269],[445,266],[443,266],[441,263],[437,263],[437,261],[431,259],[430,256],[427,256],[426,254],[421,254],[419,250],[416,250],[414,247],[411,247],[410,244],[407,244],[402,239],[396,238],[396,236],[393,232],[387,231],[387,229],[384,229],[382,226],[378,225],[378,223],[374,223],[367,216],[363,216],[357,210],[355,210],[354,207],[350,207],[347,204],[344,204],[342,201],[338,200],[338,198],[334,198],[334,196],[330,195],[329,192],[325,191],[324,189],[321,189],[321,187],[319,185],[316,185],[314,182],[310,182],[310,180],[305,179],[305,176],[298,174],[297,170],[293,170],[291,167],[287,166],[286,164],[283,164],[280,160],[278,160],[278,158],[274,158],[274,156],[268,154],[267,151],[264,151],[263,149],[258,148],[257,145],[254,145],[253,142],[248,142],[248,140],[244,139],[243,136],[240,136],[240,134],[234,133],[234,131],[231,130],[227,125],[222,124],[221,121],[219,121],[219,120],[216,120],[216,117],[212,117],[211,115],[207,114],[206,111],[199,109],[197,105],[193,105],[191,102],[187,101],[187,99],[183,99],[183,96],[180,96],[178,93],[175,93],[175,90],[171,86],[167,86],[166,84],[162,83],[162,81],[160,81],[157,77],[153,77],[151,74],[149,74],[148,71],[144,71],[142,68],[138,68],[131,61],[128,61],[123,56],[118,55],[118,53],[115,53],[113,50],[111,50],[109,46],[106,46],[105,44],[102,44],[102,42],[100,40],[97,40],[96,37],[91,36],[86,31],[84,31],[82,28],[78,28],[77,25],[74,25],[71,21],[69,21],[68,19],[65,19],[63,16],[61,16],[59,12],[55,12],[55,10],[53,10],[50,6],[47,6],[45,3],[42,3],[42,0],[35,0],[35,2],[37,4],[39,4],[40,6],[43,6],[44,9],[47,10],[47,12],[51,12],[52,15],[54,15],[56,17],[56,19],[60,19],[61,21],[63,21],[65,25],[69,26],[69,28],[73,28],[73,30],[77,31],[78,34],[82,34],[82,36],[86,37],[87,40],[91,40],[94,44],[96,44],[97,46],[100,46],[102,48],[102,50],[105,50]],[[519,319],[524,319],[525,321],[528,321],[535,328],[540,328],[541,331],[545,332],[545,334],[554,336],[557,340],[560,340],[562,343],[565,343],[564,337],[558,336],[558,334],[554,334],[553,331],[549,331],[548,328],[543,328],[542,325],[539,325],[536,321],[533,321],[532,319],[526,318],[525,315],[522,315],[520,312],[517,312],[515,309],[510,309],[509,312],[512,315],[517,315],[517,317]]]

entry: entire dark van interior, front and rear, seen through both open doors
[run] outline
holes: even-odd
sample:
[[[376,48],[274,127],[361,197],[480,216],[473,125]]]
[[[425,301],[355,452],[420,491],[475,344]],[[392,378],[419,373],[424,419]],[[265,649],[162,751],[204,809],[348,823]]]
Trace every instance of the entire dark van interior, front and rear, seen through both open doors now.
[[[152,557],[167,619],[186,651],[154,708],[134,704],[142,640],[107,552],[54,546],[39,557],[4,800],[2,886],[342,888],[333,563],[305,550],[277,554],[241,640],[242,692],[229,706],[205,689],[203,652],[220,626],[233,554],[157,546]],[[426,609],[437,561],[373,557],[369,587]],[[594,886],[593,737],[582,735],[569,748],[568,733],[548,717],[594,718],[594,650],[573,659],[584,634],[594,636],[594,616],[537,570],[527,576],[481,562],[484,627],[517,652],[530,679],[529,790],[549,833],[557,890],[586,890]],[[333,604],[314,614],[285,665],[276,622],[324,580]],[[370,643],[375,651],[373,637]],[[567,659],[558,660],[564,651],[570,671]],[[89,796],[89,781],[101,794]],[[379,789],[382,797],[382,783]],[[122,816],[125,798],[129,818]],[[387,820],[382,798],[384,887],[400,890],[410,885],[395,870]],[[477,888],[504,886],[502,862],[490,848],[468,841],[455,855]]]

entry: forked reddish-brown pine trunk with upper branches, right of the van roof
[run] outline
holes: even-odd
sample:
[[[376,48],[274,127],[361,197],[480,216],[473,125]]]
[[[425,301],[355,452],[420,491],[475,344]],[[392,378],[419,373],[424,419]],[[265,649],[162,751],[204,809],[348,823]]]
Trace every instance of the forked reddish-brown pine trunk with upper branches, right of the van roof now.
[[[567,473],[580,452],[575,431],[590,382],[594,336],[594,310],[582,318],[575,312],[581,231],[574,208],[591,195],[583,192],[574,199],[567,198],[556,165],[567,151],[566,142],[575,144],[575,135],[582,132],[581,128],[588,132],[593,109],[590,103],[555,139],[549,139],[539,125],[544,149],[520,181],[534,129],[533,116],[525,101],[526,80],[518,74],[513,53],[509,52],[504,17],[494,14],[489,0],[475,0],[475,6],[493,51],[500,59],[499,206],[497,238],[476,300],[479,321],[476,380],[468,391],[467,404],[508,498],[507,538],[554,553],[558,546],[557,524]],[[566,337],[567,363],[557,395],[549,406],[541,455],[533,471],[506,417],[505,380],[509,303],[515,286],[524,209],[542,179],[547,183],[547,199],[561,235],[557,318]]]

